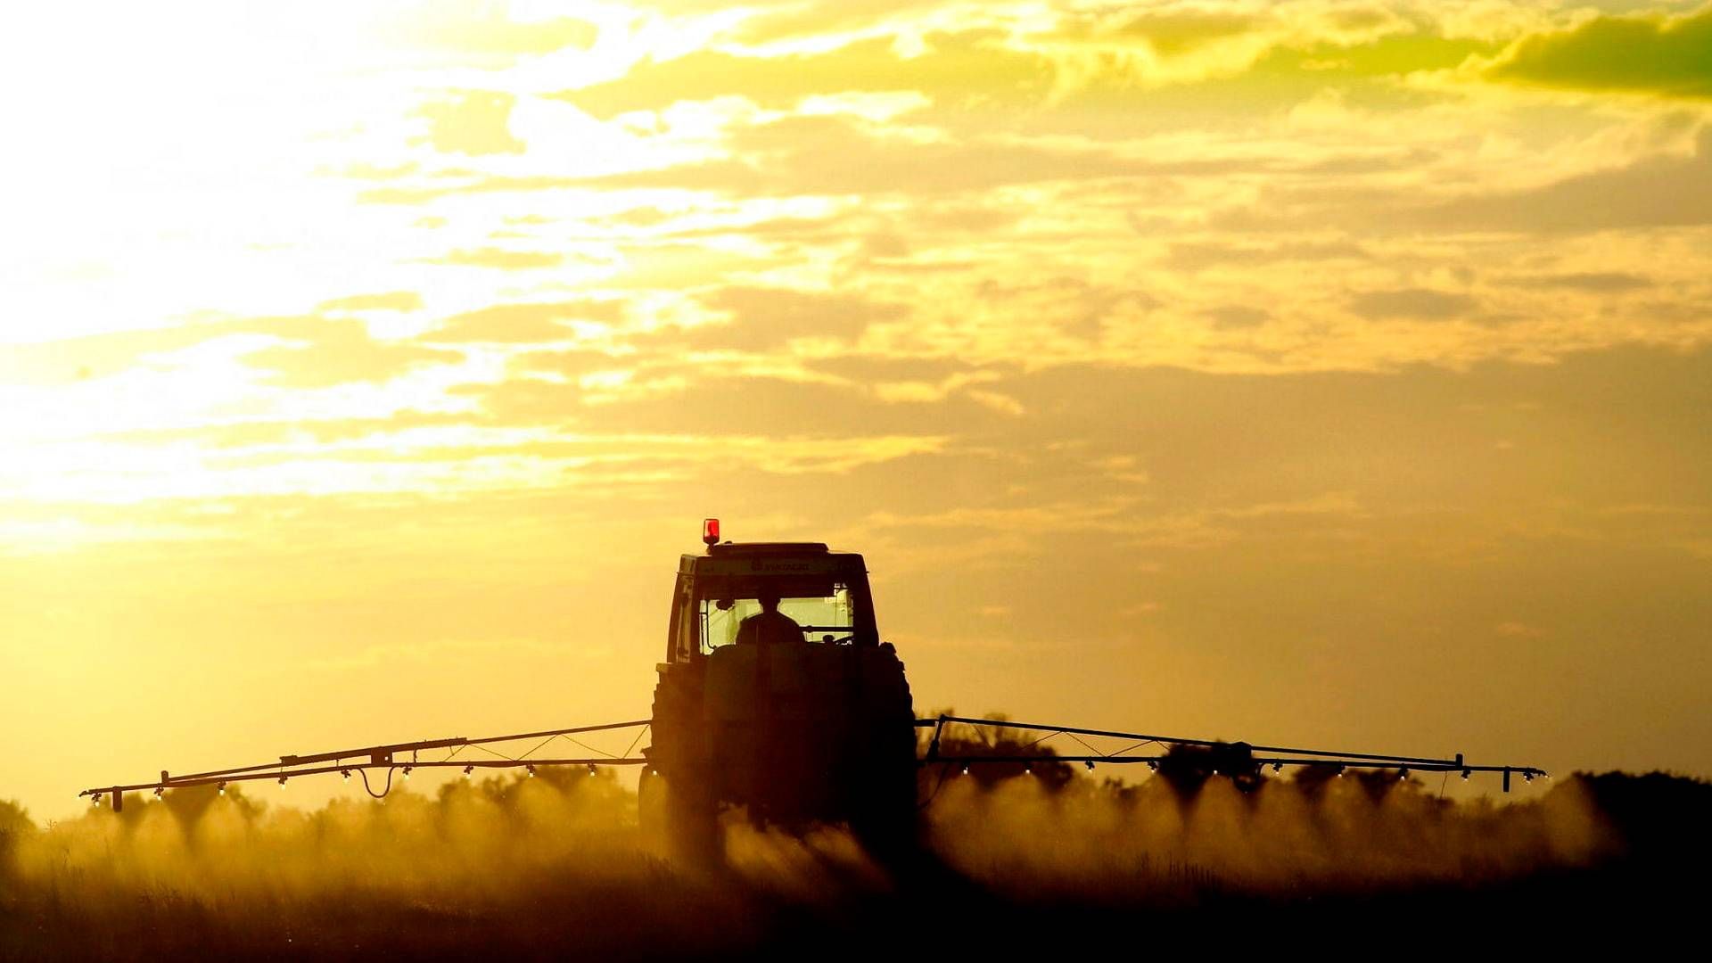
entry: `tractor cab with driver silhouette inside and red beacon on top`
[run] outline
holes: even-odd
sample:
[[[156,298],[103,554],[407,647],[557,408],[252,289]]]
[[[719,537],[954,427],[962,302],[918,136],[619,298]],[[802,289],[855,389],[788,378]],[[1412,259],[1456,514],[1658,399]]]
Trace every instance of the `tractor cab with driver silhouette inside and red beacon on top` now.
[[[757,637],[818,646],[878,646],[868,569],[854,552],[822,541],[717,541],[717,521],[705,555],[683,555],[673,591],[666,663],[704,660],[717,649]],[[764,615],[777,600],[777,615]],[[770,622],[757,634],[745,620]],[[794,629],[789,625],[794,624]],[[781,629],[782,627],[782,629]]]

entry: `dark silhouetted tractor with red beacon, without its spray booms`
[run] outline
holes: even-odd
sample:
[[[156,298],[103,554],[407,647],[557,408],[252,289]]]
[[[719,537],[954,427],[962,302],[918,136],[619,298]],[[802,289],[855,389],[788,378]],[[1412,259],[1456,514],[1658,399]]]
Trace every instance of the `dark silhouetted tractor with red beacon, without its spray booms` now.
[[[863,557],[818,541],[719,540],[683,555],[652,745],[644,831],[712,853],[722,814],[758,826],[844,824],[873,848],[916,828],[916,718],[882,643]]]

